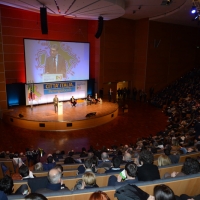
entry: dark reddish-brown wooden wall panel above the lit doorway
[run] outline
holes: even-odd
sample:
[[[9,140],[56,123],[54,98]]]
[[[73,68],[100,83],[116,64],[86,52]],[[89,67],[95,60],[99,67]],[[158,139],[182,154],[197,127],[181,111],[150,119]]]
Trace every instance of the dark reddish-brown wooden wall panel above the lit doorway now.
[[[135,22],[127,19],[105,21],[100,48],[100,88],[104,93],[117,82],[131,81]],[[108,83],[112,82],[111,85]]]

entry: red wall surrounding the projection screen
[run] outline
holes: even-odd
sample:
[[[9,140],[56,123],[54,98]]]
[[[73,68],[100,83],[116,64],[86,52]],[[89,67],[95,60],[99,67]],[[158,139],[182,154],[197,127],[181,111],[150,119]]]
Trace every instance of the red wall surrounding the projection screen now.
[[[1,44],[0,93],[6,83],[25,83],[24,38],[90,42],[90,78],[96,78],[100,40],[94,37],[97,21],[48,16],[48,35],[41,33],[40,14],[0,5]],[[1,93],[1,94],[3,94]],[[5,98],[0,104],[5,109]]]

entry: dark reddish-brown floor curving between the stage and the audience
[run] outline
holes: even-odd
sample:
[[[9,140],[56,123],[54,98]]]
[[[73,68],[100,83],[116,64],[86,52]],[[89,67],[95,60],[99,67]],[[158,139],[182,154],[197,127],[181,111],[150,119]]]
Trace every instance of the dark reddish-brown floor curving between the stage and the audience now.
[[[132,100],[126,103],[129,105],[128,113],[123,114],[120,106],[119,115],[113,121],[84,130],[35,131],[0,121],[0,151],[24,152],[25,148],[31,146],[35,149],[43,148],[46,153],[56,150],[67,152],[71,149],[81,151],[82,147],[88,149],[90,145],[98,149],[101,149],[103,145],[110,148],[111,145],[133,143],[138,137],[155,135],[158,131],[165,129],[167,117],[161,110],[147,103]],[[53,115],[53,110],[51,112]]]

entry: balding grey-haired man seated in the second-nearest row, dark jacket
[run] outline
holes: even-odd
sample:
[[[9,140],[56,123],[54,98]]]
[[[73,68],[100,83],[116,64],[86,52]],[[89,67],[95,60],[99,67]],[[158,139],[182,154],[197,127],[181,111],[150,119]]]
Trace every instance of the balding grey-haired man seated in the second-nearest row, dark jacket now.
[[[37,190],[37,193],[49,192],[49,191],[58,191],[62,189],[62,172],[57,169],[53,168],[48,172],[47,178],[49,183],[47,184],[46,188],[42,188]],[[62,190],[69,190],[67,187],[63,188]]]

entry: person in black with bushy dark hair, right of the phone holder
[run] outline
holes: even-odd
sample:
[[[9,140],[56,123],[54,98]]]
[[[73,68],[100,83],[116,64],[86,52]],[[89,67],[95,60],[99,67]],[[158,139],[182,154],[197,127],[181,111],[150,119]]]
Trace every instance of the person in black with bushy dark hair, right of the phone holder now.
[[[153,165],[153,154],[148,150],[143,150],[139,155],[139,162],[141,164],[138,167],[138,180],[139,181],[153,181],[160,179],[160,173],[158,167]]]

